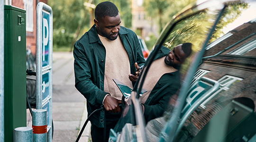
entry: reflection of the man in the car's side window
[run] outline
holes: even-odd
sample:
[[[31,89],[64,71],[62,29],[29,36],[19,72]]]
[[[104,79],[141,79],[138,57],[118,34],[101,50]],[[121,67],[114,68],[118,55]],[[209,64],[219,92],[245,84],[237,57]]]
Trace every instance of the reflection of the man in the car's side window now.
[[[147,92],[140,98],[146,122],[162,116],[170,97],[180,88],[179,69],[191,47],[191,43],[183,43],[170,51],[163,46],[152,62],[142,87]]]

